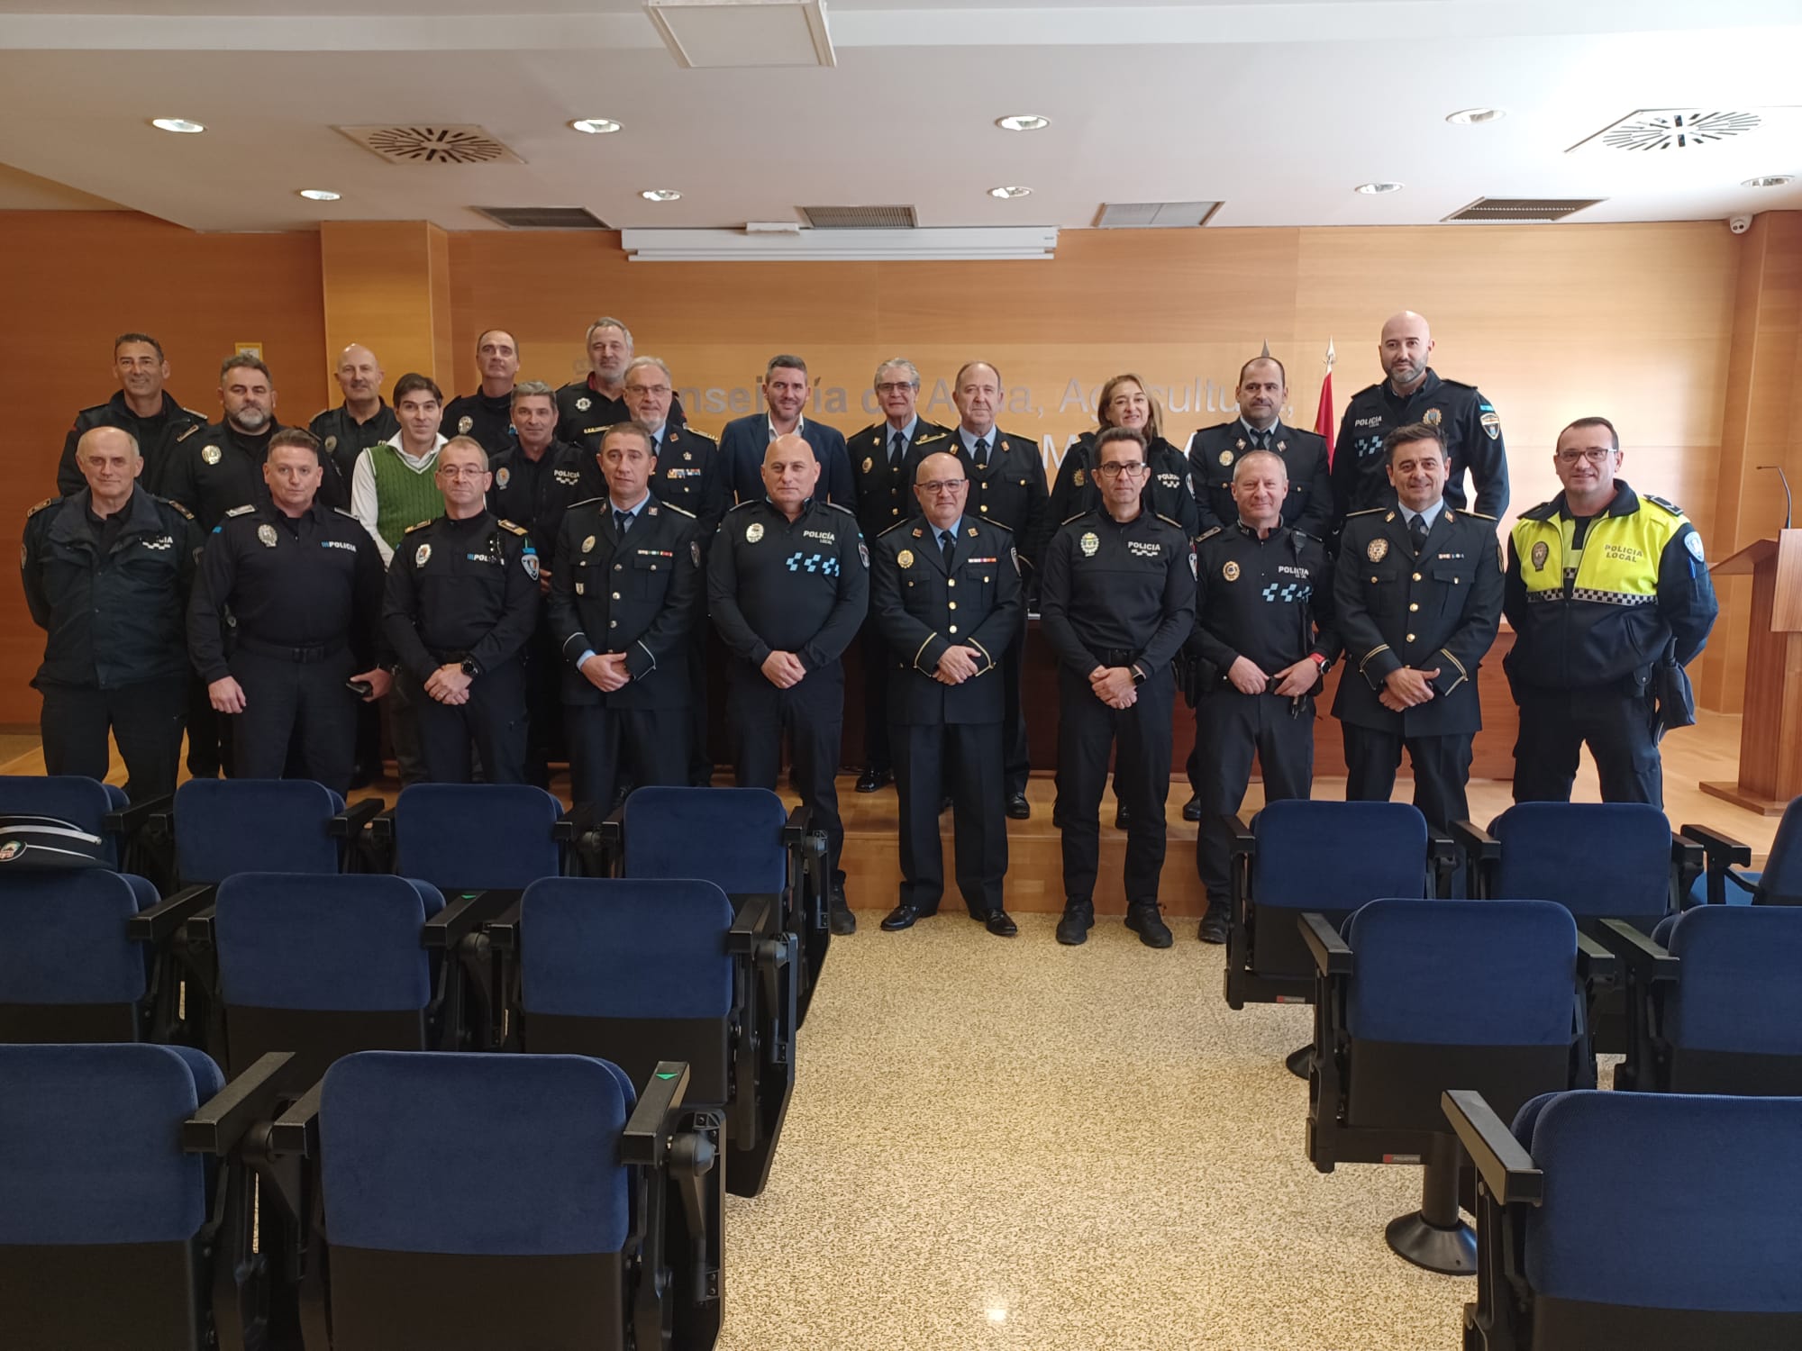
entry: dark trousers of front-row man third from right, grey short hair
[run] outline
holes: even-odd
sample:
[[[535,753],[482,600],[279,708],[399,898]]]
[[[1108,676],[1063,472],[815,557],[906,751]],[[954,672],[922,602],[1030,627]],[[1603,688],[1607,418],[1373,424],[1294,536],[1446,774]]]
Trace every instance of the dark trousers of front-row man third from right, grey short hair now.
[[[1195,870],[1207,902],[1224,906],[1233,895],[1233,836],[1225,818],[1245,805],[1252,751],[1263,771],[1265,802],[1306,798],[1314,789],[1314,697],[1305,695],[1297,704],[1285,695],[1240,694],[1222,685],[1195,704],[1195,744],[1202,771]]]

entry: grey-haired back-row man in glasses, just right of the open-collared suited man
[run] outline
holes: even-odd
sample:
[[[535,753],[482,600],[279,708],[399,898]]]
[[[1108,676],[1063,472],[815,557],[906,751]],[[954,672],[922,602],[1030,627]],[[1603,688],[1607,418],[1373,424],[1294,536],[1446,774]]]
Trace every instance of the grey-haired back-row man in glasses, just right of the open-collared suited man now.
[[[876,402],[883,409],[883,420],[845,441],[856,483],[858,530],[863,531],[863,539],[874,540],[890,526],[919,515],[914,485],[905,477],[908,465],[912,463],[917,474],[923,454],[932,454],[932,447],[946,449],[950,429],[921,418],[914,409],[917,398],[919,369],[914,362],[905,357],[885,360],[876,367]],[[912,454],[915,445],[921,445],[921,454]],[[861,648],[863,773],[858,776],[858,793],[876,793],[894,778],[894,760],[888,753],[888,668],[894,665],[894,654],[883,638],[874,603],[863,621]]]

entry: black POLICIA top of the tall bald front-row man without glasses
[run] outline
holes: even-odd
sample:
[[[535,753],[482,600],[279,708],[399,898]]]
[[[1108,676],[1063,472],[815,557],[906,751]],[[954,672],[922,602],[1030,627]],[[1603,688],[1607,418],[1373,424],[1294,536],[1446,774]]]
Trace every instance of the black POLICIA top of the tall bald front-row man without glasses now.
[[[858,519],[809,497],[789,521],[768,497],[739,503],[706,558],[706,603],[741,661],[793,652],[809,672],[858,636],[870,600],[870,555]]]

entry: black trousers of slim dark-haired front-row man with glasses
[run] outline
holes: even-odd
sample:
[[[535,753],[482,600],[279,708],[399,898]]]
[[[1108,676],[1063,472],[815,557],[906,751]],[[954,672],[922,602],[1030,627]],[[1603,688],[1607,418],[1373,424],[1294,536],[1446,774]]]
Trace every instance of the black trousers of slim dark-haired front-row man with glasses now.
[[[1110,665],[1126,665],[1124,661]],[[1101,866],[1101,791],[1108,749],[1126,807],[1126,904],[1155,906],[1164,872],[1164,802],[1169,798],[1169,713],[1177,681],[1168,665],[1139,686],[1132,708],[1108,708],[1085,676],[1058,666],[1058,823],[1063,829],[1063,895],[1094,902]]]

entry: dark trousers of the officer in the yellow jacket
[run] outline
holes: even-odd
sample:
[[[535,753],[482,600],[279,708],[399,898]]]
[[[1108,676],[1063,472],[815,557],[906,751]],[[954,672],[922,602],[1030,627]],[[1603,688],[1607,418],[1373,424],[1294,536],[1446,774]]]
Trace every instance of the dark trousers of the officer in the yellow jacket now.
[[[1652,695],[1620,685],[1548,690],[1515,685],[1514,800],[1570,802],[1577,753],[1589,746],[1602,802],[1665,805],[1665,771],[1652,740]]]

